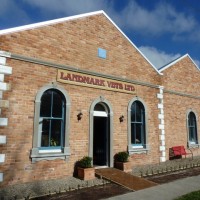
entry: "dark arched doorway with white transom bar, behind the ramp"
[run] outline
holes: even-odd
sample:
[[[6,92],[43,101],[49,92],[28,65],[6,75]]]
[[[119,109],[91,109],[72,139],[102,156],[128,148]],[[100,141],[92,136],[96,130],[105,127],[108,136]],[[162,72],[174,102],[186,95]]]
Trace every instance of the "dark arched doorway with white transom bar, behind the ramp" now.
[[[97,166],[109,166],[110,133],[109,117],[106,107],[97,104],[93,118],[93,164]]]

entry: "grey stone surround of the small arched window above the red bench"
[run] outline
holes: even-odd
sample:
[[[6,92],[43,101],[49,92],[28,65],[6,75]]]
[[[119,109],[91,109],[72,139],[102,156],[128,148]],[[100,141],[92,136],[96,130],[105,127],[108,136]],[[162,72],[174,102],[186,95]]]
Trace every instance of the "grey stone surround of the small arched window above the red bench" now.
[[[195,116],[195,129],[196,129],[196,141],[195,141],[195,143],[192,143],[191,141],[190,141],[190,125],[189,125],[189,116],[190,116],[190,114],[191,113],[193,113],[194,114],[194,116]],[[190,109],[190,110],[188,110],[187,111],[187,137],[188,137],[188,147],[189,148],[196,148],[196,147],[199,147],[200,145],[199,145],[199,136],[198,136],[198,116],[197,116],[197,114],[196,114],[196,112],[194,111],[194,110],[192,110],[192,109]]]

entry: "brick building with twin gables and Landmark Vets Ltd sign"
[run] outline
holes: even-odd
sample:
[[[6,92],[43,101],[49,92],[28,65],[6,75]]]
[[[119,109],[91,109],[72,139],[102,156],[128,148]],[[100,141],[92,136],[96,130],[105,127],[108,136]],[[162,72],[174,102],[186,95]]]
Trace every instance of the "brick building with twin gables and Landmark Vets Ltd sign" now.
[[[103,11],[0,31],[0,81],[0,187],[73,176],[85,155],[200,155],[198,67],[156,69]]]

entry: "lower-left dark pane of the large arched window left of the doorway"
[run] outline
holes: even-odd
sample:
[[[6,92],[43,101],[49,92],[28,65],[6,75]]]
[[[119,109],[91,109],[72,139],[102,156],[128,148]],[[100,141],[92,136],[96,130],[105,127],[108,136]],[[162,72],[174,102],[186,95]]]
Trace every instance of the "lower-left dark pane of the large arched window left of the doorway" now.
[[[42,147],[48,147],[49,146],[49,128],[50,128],[50,120],[43,119],[43,122],[42,122],[42,141],[41,141]]]

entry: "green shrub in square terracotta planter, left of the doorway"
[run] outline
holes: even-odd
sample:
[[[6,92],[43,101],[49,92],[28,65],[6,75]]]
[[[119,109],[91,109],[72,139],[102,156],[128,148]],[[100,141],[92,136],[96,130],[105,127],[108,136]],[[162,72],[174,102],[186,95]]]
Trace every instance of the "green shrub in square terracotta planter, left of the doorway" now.
[[[95,178],[95,169],[92,166],[92,158],[84,156],[78,161],[78,177],[82,180],[92,180]]]

